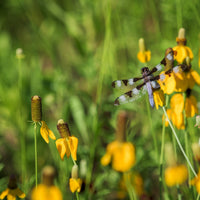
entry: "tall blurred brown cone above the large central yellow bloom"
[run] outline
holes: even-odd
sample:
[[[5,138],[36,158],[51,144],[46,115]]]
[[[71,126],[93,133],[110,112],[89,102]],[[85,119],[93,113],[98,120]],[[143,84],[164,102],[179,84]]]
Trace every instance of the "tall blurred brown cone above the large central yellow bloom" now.
[[[117,116],[117,130],[116,130],[116,140],[119,142],[126,141],[126,123],[127,123],[127,113],[125,111],[120,111]]]

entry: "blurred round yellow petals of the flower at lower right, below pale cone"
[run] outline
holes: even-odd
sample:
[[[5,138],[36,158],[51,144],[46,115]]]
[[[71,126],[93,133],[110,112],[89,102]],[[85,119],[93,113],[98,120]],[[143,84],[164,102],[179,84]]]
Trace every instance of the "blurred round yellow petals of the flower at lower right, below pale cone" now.
[[[180,185],[188,178],[188,171],[185,165],[170,166],[165,170],[165,182],[169,187]]]

